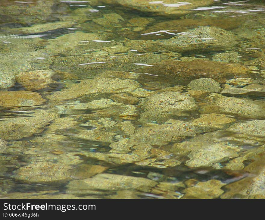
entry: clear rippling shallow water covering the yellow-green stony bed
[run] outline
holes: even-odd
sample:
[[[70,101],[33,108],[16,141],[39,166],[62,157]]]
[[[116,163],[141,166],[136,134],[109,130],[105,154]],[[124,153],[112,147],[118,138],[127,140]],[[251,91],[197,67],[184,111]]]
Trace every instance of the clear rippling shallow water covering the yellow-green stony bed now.
[[[0,2],[0,198],[264,198],[264,1]]]

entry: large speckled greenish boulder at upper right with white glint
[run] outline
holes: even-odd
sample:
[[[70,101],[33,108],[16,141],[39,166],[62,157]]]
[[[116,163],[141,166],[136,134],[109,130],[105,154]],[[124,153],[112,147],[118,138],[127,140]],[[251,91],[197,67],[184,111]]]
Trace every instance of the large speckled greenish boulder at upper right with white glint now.
[[[159,44],[176,52],[231,50],[237,44],[234,33],[219,27],[199,27],[189,32],[179,33]]]

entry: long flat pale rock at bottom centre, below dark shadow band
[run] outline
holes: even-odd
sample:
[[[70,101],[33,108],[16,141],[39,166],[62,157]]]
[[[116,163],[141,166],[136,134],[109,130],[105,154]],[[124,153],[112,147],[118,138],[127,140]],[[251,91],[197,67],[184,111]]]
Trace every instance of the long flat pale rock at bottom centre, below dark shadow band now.
[[[85,194],[87,190],[127,190],[136,189],[150,192],[151,188],[157,184],[142,177],[132,177],[117,174],[97,174],[92,178],[84,180],[73,180],[67,184],[67,193]]]

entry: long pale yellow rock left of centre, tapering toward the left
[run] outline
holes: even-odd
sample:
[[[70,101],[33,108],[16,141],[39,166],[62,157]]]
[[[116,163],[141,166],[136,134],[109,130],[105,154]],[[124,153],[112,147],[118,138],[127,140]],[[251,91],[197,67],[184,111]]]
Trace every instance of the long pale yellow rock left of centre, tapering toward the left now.
[[[141,87],[134,80],[120,80],[111,78],[95,78],[91,80],[80,80],[80,83],[71,86],[69,89],[56,91],[47,96],[51,100],[74,99],[84,95],[99,93],[127,92]]]

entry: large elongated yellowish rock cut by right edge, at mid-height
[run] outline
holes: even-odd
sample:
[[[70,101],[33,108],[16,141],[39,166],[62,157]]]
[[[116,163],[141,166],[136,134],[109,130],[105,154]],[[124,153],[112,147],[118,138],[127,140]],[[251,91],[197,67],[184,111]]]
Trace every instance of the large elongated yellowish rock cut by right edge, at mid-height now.
[[[239,99],[210,93],[206,98],[207,105],[200,108],[201,113],[222,113],[252,119],[263,119],[265,103],[250,99]]]

